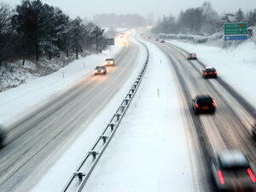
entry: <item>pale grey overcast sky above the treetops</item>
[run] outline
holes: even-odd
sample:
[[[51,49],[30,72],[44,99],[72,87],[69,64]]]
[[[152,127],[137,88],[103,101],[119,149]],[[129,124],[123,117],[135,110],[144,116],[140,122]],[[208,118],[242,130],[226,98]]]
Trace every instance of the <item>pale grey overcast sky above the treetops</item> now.
[[[11,5],[20,0],[0,0]],[[181,9],[201,6],[206,0],[42,0],[44,3],[60,7],[71,17],[92,19],[102,13],[139,14],[146,16],[153,12],[155,19],[160,15],[177,15]],[[209,0],[218,13],[232,12],[241,8],[256,8],[256,0]]]

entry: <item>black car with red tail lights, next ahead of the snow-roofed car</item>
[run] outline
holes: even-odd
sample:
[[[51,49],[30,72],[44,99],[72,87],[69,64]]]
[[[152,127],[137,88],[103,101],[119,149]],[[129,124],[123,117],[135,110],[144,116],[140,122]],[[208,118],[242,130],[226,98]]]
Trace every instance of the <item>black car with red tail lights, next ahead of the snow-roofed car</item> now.
[[[213,102],[212,97],[208,95],[195,96],[195,99],[192,99],[192,108],[194,112],[203,113],[209,112],[214,113],[216,104]]]

